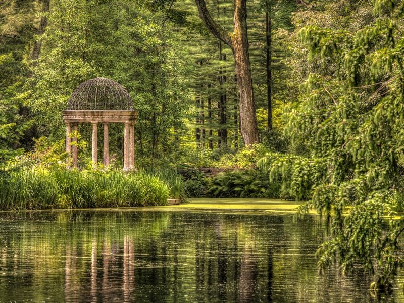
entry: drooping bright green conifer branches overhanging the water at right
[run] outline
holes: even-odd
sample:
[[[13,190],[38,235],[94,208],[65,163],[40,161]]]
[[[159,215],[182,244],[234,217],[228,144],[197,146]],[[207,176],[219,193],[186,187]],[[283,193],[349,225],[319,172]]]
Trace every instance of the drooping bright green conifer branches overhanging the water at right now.
[[[258,166],[270,180],[281,176],[291,196],[308,200],[300,214],[313,208],[329,218],[330,240],[317,252],[320,272],[334,262],[344,273],[361,264],[375,274],[373,287],[387,290],[404,265],[404,221],[391,213],[404,171],[403,5],[374,5],[371,24],[360,29],[300,30],[309,60],[332,61],[333,76],[314,69],[300,104],[287,110],[285,132],[307,152],[269,154]]]

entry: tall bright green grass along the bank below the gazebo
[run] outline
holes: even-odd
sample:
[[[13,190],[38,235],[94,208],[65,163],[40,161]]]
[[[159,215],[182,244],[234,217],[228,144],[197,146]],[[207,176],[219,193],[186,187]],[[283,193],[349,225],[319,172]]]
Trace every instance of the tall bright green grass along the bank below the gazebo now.
[[[0,209],[157,206],[182,196],[175,171],[108,173],[56,169],[0,175]]]

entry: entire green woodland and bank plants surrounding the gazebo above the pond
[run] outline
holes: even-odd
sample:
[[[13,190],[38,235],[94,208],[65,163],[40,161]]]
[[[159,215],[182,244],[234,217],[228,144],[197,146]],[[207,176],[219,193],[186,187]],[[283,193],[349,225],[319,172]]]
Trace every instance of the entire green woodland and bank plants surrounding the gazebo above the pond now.
[[[305,201],[295,220],[314,209],[329,231],[319,272],[360,266],[389,292],[404,265],[403,17],[399,0],[0,0],[0,209]],[[80,172],[64,170],[62,111],[95,77],[139,111],[137,173],[116,171],[118,124],[108,167],[81,124]]]

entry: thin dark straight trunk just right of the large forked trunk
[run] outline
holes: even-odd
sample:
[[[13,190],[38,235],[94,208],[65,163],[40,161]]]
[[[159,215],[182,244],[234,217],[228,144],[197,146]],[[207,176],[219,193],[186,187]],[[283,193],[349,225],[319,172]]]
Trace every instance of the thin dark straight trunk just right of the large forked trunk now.
[[[265,13],[266,24],[266,69],[267,69],[267,103],[268,103],[268,115],[267,115],[267,127],[272,129],[272,71],[271,71],[271,16],[269,15],[269,6],[267,5],[267,11]]]

